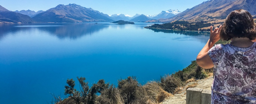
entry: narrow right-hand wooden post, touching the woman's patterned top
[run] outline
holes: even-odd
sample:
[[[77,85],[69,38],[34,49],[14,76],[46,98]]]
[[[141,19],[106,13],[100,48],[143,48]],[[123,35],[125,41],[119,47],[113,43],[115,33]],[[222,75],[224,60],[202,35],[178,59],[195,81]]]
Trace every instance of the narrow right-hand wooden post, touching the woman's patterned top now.
[[[201,94],[201,104],[211,104],[211,90],[203,89]]]

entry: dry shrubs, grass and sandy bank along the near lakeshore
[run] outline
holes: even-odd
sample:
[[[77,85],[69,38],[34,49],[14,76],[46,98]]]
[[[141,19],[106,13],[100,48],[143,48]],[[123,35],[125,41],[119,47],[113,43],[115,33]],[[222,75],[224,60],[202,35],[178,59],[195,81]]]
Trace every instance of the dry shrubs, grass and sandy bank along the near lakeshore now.
[[[218,41],[216,44],[227,44],[230,41]],[[141,85],[136,77],[129,76],[118,80],[117,87],[99,80],[91,87],[84,77],[77,77],[80,91],[74,89],[75,81],[68,79],[65,86],[64,100],[52,94],[52,104],[175,104],[185,103],[185,90],[188,88],[207,88],[212,82],[212,69],[199,67],[195,61],[182,71],[165,75],[159,81],[149,81]],[[209,79],[209,76],[210,79]],[[205,79],[206,78],[206,79]],[[205,79],[205,80],[200,80]],[[200,80],[200,81],[198,81]],[[167,99],[167,100],[166,100]],[[168,102],[166,102],[168,101]]]

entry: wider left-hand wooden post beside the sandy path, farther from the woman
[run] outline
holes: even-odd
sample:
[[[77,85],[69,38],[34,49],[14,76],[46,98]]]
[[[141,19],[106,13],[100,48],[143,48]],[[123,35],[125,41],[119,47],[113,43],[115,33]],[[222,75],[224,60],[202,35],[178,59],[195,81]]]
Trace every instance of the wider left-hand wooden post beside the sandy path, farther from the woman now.
[[[201,104],[201,93],[203,89],[188,88],[186,104]]]

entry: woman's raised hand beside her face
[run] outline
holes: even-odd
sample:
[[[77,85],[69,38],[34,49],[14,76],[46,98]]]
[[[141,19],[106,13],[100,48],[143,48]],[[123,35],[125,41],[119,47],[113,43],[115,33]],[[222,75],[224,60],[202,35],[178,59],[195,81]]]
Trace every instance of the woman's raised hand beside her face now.
[[[212,26],[210,27],[210,42],[211,44],[215,44],[217,41],[219,41],[219,33],[220,29],[222,28],[222,25],[219,26],[219,28],[215,28],[214,31],[212,30]]]

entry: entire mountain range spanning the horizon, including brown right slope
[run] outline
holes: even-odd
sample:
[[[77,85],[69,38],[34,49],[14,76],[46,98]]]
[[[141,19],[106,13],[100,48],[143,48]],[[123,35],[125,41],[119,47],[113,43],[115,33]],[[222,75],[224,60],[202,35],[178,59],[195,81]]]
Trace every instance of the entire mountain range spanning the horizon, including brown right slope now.
[[[179,10],[162,11],[158,15],[140,15],[128,17],[124,14],[107,15],[92,8],[76,4],[58,5],[47,11],[9,11],[0,6],[0,23],[28,22],[113,22],[125,20],[132,22],[189,22],[214,21],[225,19],[234,10],[244,9],[256,15],[256,0],[209,0],[180,13]],[[32,17],[32,18],[31,18]]]

